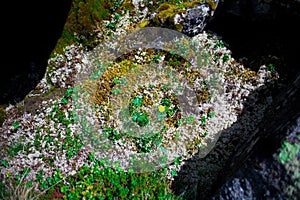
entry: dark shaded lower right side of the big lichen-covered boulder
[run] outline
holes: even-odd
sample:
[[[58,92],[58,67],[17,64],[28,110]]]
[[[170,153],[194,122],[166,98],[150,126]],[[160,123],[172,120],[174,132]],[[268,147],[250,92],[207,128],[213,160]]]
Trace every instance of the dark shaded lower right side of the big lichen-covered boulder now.
[[[278,91],[273,90],[276,87],[276,83],[270,84],[268,87],[259,88],[250,94],[243,103],[245,105],[243,112],[232,126],[221,132],[212,151],[204,158],[200,158],[196,154],[185,162],[171,187],[177,195],[181,195],[185,189],[188,189],[190,193],[185,194],[184,199],[212,199],[218,189],[242,165],[240,162],[231,163],[232,156],[237,155],[239,148],[243,147],[252,137],[254,129],[250,127],[258,126],[261,121],[255,113],[260,112],[258,108],[266,103],[267,96],[278,95]],[[234,167],[231,168],[232,164]],[[195,176],[199,176],[199,182],[191,185],[189,182]]]

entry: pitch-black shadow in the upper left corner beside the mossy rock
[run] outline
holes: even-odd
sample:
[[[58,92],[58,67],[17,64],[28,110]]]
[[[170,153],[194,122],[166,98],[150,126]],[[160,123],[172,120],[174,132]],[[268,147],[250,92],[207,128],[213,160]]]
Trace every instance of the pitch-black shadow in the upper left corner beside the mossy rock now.
[[[43,78],[71,2],[6,1],[1,6],[0,104],[21,101]]]

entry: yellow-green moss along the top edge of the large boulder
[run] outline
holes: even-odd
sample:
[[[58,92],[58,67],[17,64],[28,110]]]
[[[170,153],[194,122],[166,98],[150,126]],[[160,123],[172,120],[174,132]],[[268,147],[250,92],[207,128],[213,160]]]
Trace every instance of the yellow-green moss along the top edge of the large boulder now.
[[[97,25],[102,23],[103,19],[108,20],[112,13],[121,9],[120,7],[117,8],[116,2],[115,0],[73,0],[62,35],[52,51],[51,57],[55,53],[62,54],[66,46],[74,43],[80,43],[87,47],[96,46],[97,40],[94,30]],[[171,28],[175,26],[176,30],[181,31],[182,25],[174,25],[174,16],[177,13],[184,12],[187,8],[192,8],[203,2],[208,3],[213,10],[217,7],[213,0],[183,2],[182,4],[154,1],[153,5],[148,6],[150,13],[153,13],[156,9],[158,10],[158,14],[153,19],[154,24],[144,21],[139,24],[139,27],[145,27],[149,24],[159,26],[166,23],[172,24]],[[122,8],[128,10],[131,15],[135,14],[135,8],[131,0],[125,0]],[[76,37],[74,33],[77,33]]]

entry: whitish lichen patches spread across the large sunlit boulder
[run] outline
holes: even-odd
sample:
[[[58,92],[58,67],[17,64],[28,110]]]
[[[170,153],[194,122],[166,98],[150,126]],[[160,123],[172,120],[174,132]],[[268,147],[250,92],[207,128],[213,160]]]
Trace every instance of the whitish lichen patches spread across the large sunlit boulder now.
[[[147,8],[142,3],[143,1],[133,1],[135,9],[138,10],[138,16],[132,17],[128,12],[123,12],[118,20],[107,21],[103,23],[103,32],[109,32],[108,24],[115,24],[114,36],[126,37],[124,34],[128,30],[132,30],[135,23],[140,22],[141,19],[147,14]],[[141,11],[141,8],[142,11]],[[180,20],[176,17],[176,20]],[[106,36],[107,38],[109,36]],[[170,164],[168,166],[167,178],[171,181],[174,176],[173,170],[181,170],[186,160],[197,159],[205,156],[213,148],[213,145],[217,141],[219,135],[229,127],[232,127],[237,121],[244,109],[244,101],[260,87],[263,87],[266,82],[271,81],[274,77],[271,77],[269,71],[262,66],[258,72],[254,72],[245,68],[242,64],[238,63],[231,57],[231,51],[224,46],[222,40],[216,36],[202,32],[192,38],[192,41],[202,52],[202,65],[206,68],[214,68],[214,71],[218,72],[218,80],[220,81],[222,88],[219,88],[220,93],[215,93],[216,101],[204,102],[199,105],[200,112],[202,113],[203,120],[206,123],[206,130],[197,129],[199,135],[205,135],[206,139],[199,139],[197,143],[191,144],[189,148],[179,148],[178,151],[182,157],[180,164]],[[222,45],[223,44],[223,45]],[[115,47],[116,44],[105,44],[107,47]],[[138,64],[143,64],[144,59],[147,58],[147,52],[141,50],[141,54],[136,55],[135,61]],[[145,54],[144,54],[145,53]],[[63,55],[56,55],[54,58],[49,59],[49,67],[45,77],[42,79],[37,89],[41,93],[49,92],[50,88],[55,86],[61,89],[72,89],[76,85],[78,80],[78,74],[84,73],[87,68],[94,65],[94,61],[91,62],[88,58],[91,57],[90,52],[85,52],[81,46],[69,46],[65,49]],[[160,62],[164,60],[164,57],[160,57]],[[146,63],[146,62],[145,62]],[[212,80],[209,72],[206,78]],[[278,78],[278,77],[275,77]],[[144,80],[147,81],[147,80]],[[194,88],[201,88],[203,86],[203,79],[195,79]],[[146,93],[151,93],[146,91]],[[158,93],[158,96],[163,96],[162,93]],[[18,107],[11,106],[7,109],[8,118],[0,128],[0,146],[5,147],[0,151],[0,155],[3,160],[8,162],[7,167],[2,167],[0,174],[3,177],[15,176],[20,174],[24,167],[30,168],[30,176],[27,179],[35,180],[35,174],[37,171],[42,170],[45,176],[51,176],[54,170],[59,168],[61,172],[70,175],[75,174],[77,170],[87,164],[86,161],[89,153],[93,150],[90,144],[80,144],[80,139],[76,139],[80,135],[82,130],[82,123],[75,123],[72,119],[72,112],[74,111],[74,102],[76,105],[82,103],[85,106],[86,102],[80,102],[80,99],[72,99],[74,96],[56,96],[53,99],[47,99],[43,101],[35,114],[23,113],[16,115]],[[157,102],[154,102],[159,106]],[[109,107],[103,106],[103,111],[108,111]],[[265,106],[265,105],[264,105]],[[253,121],[259,121],[263,117],[263,111],[265,109],[263,105],[258,105],[255,108],[254,113],[251,116],[244,116],[252,119]],[[82,109],[85,114],[85,119],[89,124],[99,123],[98,116],[93,116],[94,108],[85,107]],[[208,110],[213,109],[216,113],[215,116],[208,116]],[[77,110],[78,113],[80,111]],[[82,115],[83,115],[82,114]],[[104,112],[100,113],[104,114]],[[80,117],[80,116],[79,116]],[[82,116],[81,116],[82,117]],[[103,117],[103,116],[101,116]],[[111,116],[110,116],[111,117]],[[199,116],[201,119],[201,116]],[[101,118],[102,119],[102,118]],[[69,123],[68,120],[71,120]],[[73,121],[74,120],[74,121]],[[103,122],[104,123],[104,122]],[[201,124],[201,121],[196,123]],[[198,125],[199,125],[198,124]],[[102,124],[101,124],[102,125]],[[247,131],[254,130],[254,124],[241,124],[243,127],[237,127],[247,129]],[[198,126],[200,127],[200,125]],[[175,128],[174,128],[175,129]],[[169,135],[173,134],[174,129],[170,129],[167,132]],[[197,132],[196,131],[196,132]],[[99,130],[99,134],[103,134],[102,130]],[[182,131],[182,136],[189,137],[189,132]],[[195,136],[196,137],[196,136]],[[78,145],[78,150],[69,155],[66,149],[63,148],[64,142],[67,139],[72,138],[72,142]],[[164,138],[167,140],[167,138]],[[168,142],[170,142],[169,140]],[[103,141],[105,143],[106,141]],[[131,155],[136,154],[136,144],[133,142],[123,142],[115,140],[113,153],[97,152],[96,156],[100,159],[107,158],[111,160],[121,160],[124,166],[128,165],[128,158]],[[167,145],[168,142],[165,144]],[[192,141],[191,141],[192,142]],[[14,144],[21,144],[24,149],[20,149],[16,152],[16,155],[7,155],[7,150],[12,151]],[[73,143],[72,143],[73,144]],[[66,144],[67,147],[72,146]],[[169,143],[170,144],[170,143]],[[69,146],[68,146],[69,145]],[[170,144],[171,149],[178,148],[178,145]],[[180,145],[179,145],[180,146]],[[181,146],[180,146],[181,147]],[[204,147],[204,149],[202,149]],[[170,152],[171,149],[169,149]],[[117,154],[116,152],[123,152]],[[177,154],[176,154],[177,155]],[[149,155],[149,160],[155,162],[155,158]],[[174,159],[174,156],[171,156]],[[125,167],[126,168],[126,167]],[[192,166],[193,169],[197,169],[197,164]],[[194,170],[197,173],[196,170]],[[199,176],[193,174],[192,179],[188,180],[189,183],[196,183],[199,181]]]

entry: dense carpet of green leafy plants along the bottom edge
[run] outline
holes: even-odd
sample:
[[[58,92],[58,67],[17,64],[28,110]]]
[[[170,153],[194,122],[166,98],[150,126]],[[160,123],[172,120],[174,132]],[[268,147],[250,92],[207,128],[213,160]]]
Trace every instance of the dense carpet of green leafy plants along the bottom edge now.
[[[56,169],[51,177],[37,174],[40,189],[45,190],[41,199],[181,199],[168,189],[165,178],[166,168],[151,173],[135,173],[105,166],[105,161],[91,153],[88,161],[93,165],[83,165],[78,172],[64,176]],[[172,174],[176,175],[176,171]],[[64,180],[63,182],[61,180]]]

